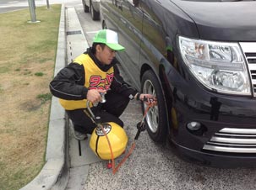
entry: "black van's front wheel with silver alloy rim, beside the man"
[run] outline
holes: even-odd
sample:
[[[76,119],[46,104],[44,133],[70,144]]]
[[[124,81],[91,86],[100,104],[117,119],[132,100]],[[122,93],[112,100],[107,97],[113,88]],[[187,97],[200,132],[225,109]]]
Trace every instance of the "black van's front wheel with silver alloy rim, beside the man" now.
[[[167,135],[166,103],[161,85],[153,71],[145,71],[141,81],[141,92],[150,93],[157,98],[157,105],[146,114],[146,126],[150,138],[157,143],[164,143]],[[145,110],[146,104],[143,104]]]

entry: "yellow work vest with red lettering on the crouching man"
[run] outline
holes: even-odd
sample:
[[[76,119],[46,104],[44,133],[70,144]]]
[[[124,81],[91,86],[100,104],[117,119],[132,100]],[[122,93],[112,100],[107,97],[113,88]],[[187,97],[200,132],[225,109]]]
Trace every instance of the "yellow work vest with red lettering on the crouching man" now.
[[[110,88],[114,77],[113,66],[108,71],[101,71],[88,54],[79,55],[74,62],[84,66],[84,87],[102,90],[108,90]],[[87,100],[65,100],[60,98],[59,102],[66,110],[74,110],[86,108]]]

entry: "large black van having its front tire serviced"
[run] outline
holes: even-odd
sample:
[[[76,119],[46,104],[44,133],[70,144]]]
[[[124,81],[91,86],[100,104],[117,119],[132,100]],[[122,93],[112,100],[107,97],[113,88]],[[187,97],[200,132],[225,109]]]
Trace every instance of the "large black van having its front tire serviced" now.
[[[155,142],[188,161],[256,166],[256,2],[101,0],[133,85],[153,93]]]

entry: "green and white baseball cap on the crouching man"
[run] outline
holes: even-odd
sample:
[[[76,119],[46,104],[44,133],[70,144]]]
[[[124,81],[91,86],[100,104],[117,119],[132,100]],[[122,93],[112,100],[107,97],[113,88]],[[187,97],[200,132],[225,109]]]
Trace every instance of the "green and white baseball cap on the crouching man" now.
[[[122,45],[118,44],[118,35],[110,29],[102,29],[95,34],[93,43],[102,43],[110,47],[112,50],[125,50]]]

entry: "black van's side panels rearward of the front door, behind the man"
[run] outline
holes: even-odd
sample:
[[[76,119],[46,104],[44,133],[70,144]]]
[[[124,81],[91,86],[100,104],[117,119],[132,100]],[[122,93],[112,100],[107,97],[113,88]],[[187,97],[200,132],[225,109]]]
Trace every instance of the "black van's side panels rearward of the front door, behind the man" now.
[[[139,50],[142,34],[143,13],[133,0],[101,0],[106,28],[117,31],[119,43],[125,51],[117,53],[117,59],[133,82],[140,89]]]

